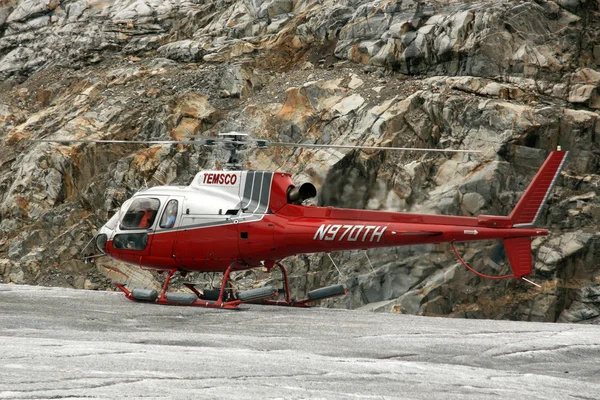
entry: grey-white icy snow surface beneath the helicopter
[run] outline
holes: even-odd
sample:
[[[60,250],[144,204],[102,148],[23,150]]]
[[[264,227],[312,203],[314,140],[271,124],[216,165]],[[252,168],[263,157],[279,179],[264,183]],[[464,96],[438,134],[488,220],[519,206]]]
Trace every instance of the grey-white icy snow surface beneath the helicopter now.
[[[0,399],[597,399],[600,326],[0,285]]]

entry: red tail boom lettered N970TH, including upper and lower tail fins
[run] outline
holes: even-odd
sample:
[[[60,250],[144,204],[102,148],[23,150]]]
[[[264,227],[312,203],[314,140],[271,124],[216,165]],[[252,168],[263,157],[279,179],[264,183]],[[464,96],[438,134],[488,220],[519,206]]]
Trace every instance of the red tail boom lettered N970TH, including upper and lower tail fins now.
[[[563,151],[550,154],[508,217],[474,218],[286,204],[278,210],[274,221],[280,228],[273,234],[275,246],[271,255],[273,259],[282,259],[295,254],[502,240],[513,276],[520,279],[532,272],[531,238],[548,235],[546,229],[533,225],[566,156]]]

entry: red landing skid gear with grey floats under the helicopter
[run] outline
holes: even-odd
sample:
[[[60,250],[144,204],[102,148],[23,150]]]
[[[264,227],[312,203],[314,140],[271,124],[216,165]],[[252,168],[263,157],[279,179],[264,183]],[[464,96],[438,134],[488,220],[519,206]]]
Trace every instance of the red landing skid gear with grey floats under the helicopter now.
[[[260,287],[257,289],[247,290],[244,292],[234,292],[233,289],[228,289],[229,277],[237,262],[232,263],[225,273],[219,290],[207,290],[204,293],[196,289],[194,283],[184,283],[192,293],[174,293],[168,292],[169,282],[173,275],[178,272],[178,269],[172,269],[168,272],[167,278],[160,293],[156,290],[148,289],[133,289],[129,290],[122,283],[115,283],[128,300],[142,303],[156,303],[170,306],[191,306],[205,308],[223,308],[228,310],[238,309],[240,304],[263,304],[271,306],[285,307],[310,307],[310,303],[317,300],[323,300],[334,296],[341,296],[348,291],[343,285],[327,286],[321,289],[316,289],[308,293],[308,297],[303,300],[293,300],[290,296],[288,275],[285,267],[280,263],[276,265],[281,269],[283,275],[283,285],[285,290],[285,300],[272,300],[278,295],[277,289],[272,286]]]

